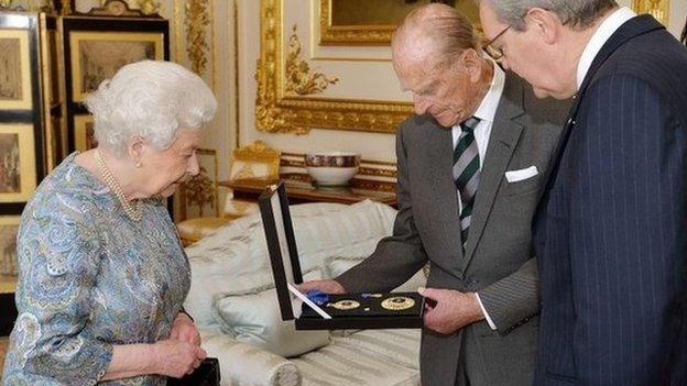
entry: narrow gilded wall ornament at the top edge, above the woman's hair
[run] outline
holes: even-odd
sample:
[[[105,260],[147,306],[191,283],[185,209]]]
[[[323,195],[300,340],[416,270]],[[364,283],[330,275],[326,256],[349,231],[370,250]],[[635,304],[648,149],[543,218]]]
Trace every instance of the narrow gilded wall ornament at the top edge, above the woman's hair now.
[[[185,5],[186,19],[186,53],[190,59],[190,68],[201,75],[207,69],[206,29],[210,24],[208,0],[188,0]]]

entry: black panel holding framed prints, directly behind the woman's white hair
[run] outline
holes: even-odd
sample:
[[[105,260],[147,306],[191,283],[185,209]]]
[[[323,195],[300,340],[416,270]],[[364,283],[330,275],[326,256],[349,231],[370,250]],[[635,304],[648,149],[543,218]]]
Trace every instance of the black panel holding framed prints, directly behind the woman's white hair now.
[[[70,15],[62,20],[69,152],[94,145],[84,98],[122,66],[170,59],[170,25],[162,18]],[[90,119],[90,121],[89,121]]]

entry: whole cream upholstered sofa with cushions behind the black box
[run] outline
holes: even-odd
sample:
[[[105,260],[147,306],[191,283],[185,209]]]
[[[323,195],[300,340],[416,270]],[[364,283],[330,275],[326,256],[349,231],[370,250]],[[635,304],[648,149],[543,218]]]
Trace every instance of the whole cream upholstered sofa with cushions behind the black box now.
[[[395,210],[292,206],[306,279],[334,277],[391,233]],[[419,385],[419,330],[295,331],[281,321],[259,214],[219,229],[186,249],[192,288],[184,305],[203,346],[220,361],[222,385]],[[400,290],[424,285],[416,274]]]

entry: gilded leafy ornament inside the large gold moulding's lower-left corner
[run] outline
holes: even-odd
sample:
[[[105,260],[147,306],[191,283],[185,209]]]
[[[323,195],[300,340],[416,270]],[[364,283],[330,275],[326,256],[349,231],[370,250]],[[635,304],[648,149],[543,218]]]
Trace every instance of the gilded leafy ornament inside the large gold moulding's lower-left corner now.
[[[330,85],[336,85],[339,78],[329,78],[321,73],[310,74],[310,65],[303,59],[303,51],[298,41],[298,25],[294,24],[293,33],[288,38],[286,54],[286,92],[307,96],[321,93]]]

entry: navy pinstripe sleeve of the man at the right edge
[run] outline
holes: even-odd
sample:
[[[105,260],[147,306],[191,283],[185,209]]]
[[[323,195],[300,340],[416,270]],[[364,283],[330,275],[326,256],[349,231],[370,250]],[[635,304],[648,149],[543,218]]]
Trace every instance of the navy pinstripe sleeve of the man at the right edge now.
[[[633,76],[602,78],[587,93],[568,144],[579,382],[663,383],[670,355],[684,350],[676,338],[687,255],[685,123]]]

